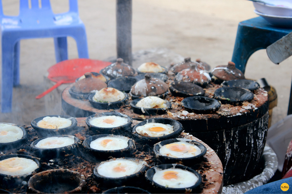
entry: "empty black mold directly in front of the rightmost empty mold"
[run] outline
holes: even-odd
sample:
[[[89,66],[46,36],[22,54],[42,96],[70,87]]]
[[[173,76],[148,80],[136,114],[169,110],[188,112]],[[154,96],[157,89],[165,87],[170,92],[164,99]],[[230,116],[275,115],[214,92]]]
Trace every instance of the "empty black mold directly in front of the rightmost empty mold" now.
[[[240,87],[222,87],[215,90],[213,98],[223,104],[240,104],[244,101],[250,102],[253,99],[253,92]]]

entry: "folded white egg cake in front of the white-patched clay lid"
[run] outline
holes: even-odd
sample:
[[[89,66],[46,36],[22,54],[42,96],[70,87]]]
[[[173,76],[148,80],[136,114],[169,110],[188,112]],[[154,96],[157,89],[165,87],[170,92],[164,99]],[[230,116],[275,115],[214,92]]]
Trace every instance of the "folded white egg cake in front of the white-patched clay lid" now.
[[[143,108],[165,108],[166,101],[157,96],[147,96],[139,100],[136,106]]]

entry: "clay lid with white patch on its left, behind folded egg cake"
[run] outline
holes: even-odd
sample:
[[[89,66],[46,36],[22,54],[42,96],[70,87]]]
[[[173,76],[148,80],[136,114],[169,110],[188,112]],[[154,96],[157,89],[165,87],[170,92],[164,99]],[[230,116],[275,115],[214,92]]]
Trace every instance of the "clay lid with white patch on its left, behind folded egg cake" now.
[[[168,85],[157,78],[151,78],[150,74],[145,74],[145,79],[141,79],[131,88],[131,94],[135,96],[157,96],[168,91]]]

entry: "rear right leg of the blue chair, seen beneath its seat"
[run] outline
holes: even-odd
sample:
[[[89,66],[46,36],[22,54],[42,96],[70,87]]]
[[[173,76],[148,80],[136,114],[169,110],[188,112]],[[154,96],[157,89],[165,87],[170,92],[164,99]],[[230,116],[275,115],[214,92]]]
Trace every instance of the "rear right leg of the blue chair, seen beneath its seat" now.
[[[56,62],[68,59],[67,37],[54,38]]]

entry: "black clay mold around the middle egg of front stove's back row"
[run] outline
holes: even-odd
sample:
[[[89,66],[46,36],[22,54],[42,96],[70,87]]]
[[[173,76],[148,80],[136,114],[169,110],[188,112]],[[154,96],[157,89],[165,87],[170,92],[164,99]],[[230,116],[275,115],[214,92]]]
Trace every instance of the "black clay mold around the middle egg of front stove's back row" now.
[[[124,124],[122,126],[118,127],[97,127],[92,124],[90,124],[90,120],[97,117],[103,117],[103,116],[119,116],[126,118],[128,120],[127,124]],[[131,125],[133,123],[133,119],[129,117],[128,115],[124,115],[119,112],[106,112],[106,113],[96,113],[94,115],[90,115],[85,120],[88,128],[94,133],[94,134],[114,134],[114,135],[121,135],[126,132],[128,132],[131,129]]]

